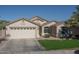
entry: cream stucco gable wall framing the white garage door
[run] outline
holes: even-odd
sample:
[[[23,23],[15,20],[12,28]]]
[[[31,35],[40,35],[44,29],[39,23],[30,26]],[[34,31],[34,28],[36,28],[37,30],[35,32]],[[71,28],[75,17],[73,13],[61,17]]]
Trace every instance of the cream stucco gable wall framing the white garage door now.
[[[12,24],[10,24],[10,25],[8,25],[8,26],[6,26],[6,28],[7,28],[7,30],[6,30],[6,38],[10,38],[8,35],[11,33],[11,29],[10,29],[10,27],[35,27],[36,29],[35,29],[35,35],[37,36],[37,38],[39,38],[40,36],[39,36],[39,26],[37,26],[37,25],[35,25],[35,24],[32,24],[32,23],[30,23],[30,22],[28,22],[28,21],[24,21],[24,20],[20,20],[20,21],[17,21],[17,22],[15,22],[15,23],[12,23]],[[28,35],[30,35],[31,33],[28,33]],[[19,34],[18,34],[19,35]],[[22,36],[23,36],[24,34],[22,34]]]

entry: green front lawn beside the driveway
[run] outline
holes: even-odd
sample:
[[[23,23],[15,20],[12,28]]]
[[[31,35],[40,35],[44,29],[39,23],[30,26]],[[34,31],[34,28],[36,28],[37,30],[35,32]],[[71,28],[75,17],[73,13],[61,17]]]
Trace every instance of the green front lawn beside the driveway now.
[[[79,40],[39,40],[46,50],[79,48]]]

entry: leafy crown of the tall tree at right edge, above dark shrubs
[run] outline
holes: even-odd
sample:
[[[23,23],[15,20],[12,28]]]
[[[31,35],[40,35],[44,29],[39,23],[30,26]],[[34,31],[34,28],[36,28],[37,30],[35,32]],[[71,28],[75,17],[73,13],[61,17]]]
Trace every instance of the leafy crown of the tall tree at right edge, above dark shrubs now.
[[[73,15],[71,18],[65,22],[67,27],[77,27],[79,26],[79,6],[76,6],[75,12],[73,12]]]

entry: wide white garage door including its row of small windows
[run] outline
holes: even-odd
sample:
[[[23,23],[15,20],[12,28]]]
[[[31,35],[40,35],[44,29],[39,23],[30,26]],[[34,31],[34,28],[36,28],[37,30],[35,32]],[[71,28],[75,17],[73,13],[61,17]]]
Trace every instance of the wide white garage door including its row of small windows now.
[[[35,27],[11,27],[9,34],[11,39],[36,38],[36,28]]]

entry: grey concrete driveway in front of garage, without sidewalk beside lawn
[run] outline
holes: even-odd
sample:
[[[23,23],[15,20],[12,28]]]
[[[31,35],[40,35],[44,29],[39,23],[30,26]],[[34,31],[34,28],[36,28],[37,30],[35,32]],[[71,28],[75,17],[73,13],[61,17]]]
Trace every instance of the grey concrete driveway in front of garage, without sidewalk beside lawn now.
[[[0,53],[18,54],[42,51],[42,47],[35,39],[11,39],[0,45]]]

